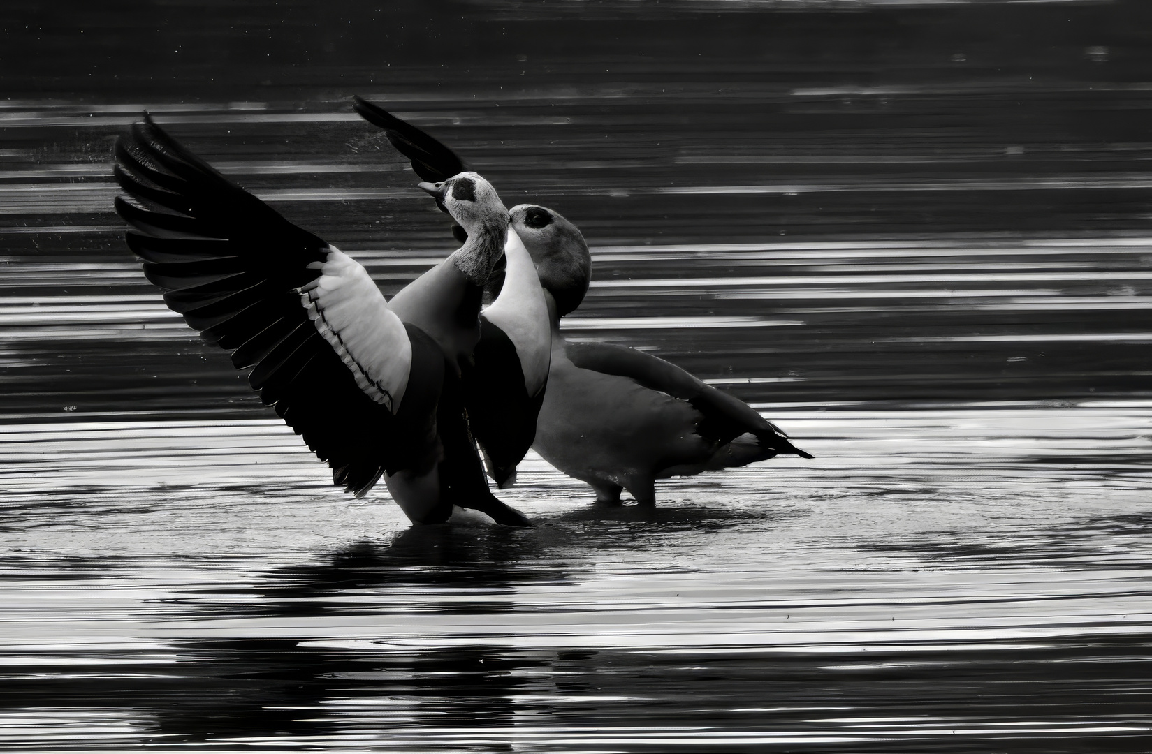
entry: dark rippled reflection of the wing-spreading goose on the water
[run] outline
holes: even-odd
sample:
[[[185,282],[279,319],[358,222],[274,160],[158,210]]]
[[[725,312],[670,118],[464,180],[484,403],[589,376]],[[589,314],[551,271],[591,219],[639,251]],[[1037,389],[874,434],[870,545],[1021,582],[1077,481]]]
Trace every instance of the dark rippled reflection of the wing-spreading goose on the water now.
[[[353,615],[379,617],[377,629],[355,646],[252,638],[190,641],[177,646],[177,673],[118,694],[126,705],[150,713],[165,742],[244,741],[278,737],[325,741],[369,726],[381,739],[389,730],[435,725],[499,728],[517,715],[515,698],[533,678],[551,677],[558,654],[523,653],[493,643],[454,647],[388,645],[388,616],[411,610],[485,614],[515,609],[506,599],[438,602],[462,589],[485,596],[511,594],[524,581],[563,581],[559,566],[529,564],[538,548],[520,530],[499,526],[438,525],[406,530],[387,542],[361,541],[321,563],[281,568],[248,592],[207,601],[168,603],[173,617],[267,619],[301,617],[335,620],[334,633]],[[431,593],[431,594],[430,594]],[[395,600],[403,599],[403,604]],[[274,620],[276,623],[276,620]],[[357,627],[364,625],[362,620]],[[255,630],[253,634],[267,634]],[[305,639],[323,635],[310,630]],[[374,640],[380,643],[374,643]],[[498,638],[499,639],[499,638]],[[563,653],[571,661],[573,653]],[[100,698],[91,694],[90,698]],[[107,701],[107,696],[103,696]],[[281,739],[282,740],[282,739]],[[497,749],[499,751],[499,746]]]

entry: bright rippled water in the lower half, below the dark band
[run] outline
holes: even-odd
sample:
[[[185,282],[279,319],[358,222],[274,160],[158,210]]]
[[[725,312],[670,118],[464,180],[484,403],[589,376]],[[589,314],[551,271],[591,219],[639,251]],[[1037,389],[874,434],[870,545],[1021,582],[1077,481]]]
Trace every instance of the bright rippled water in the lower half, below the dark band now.
[[[1152,405],[790,409],[817,455],[409,528],[274,421],[10,425],[6,747],[1146,751]],[[48,731],[52,731],[51,734]]]

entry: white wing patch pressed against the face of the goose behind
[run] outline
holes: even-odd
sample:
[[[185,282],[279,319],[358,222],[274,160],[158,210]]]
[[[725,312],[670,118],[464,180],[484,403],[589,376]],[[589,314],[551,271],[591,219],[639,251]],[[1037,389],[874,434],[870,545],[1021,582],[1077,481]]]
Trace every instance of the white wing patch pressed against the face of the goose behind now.
[[[516,346],[528,395],[536,395],[548,378],[552,358],[552,326],[548,305],[536,273],[536,264],[516,231],[508,228],[505,244],[505,283],[484,317],[505,332]]]

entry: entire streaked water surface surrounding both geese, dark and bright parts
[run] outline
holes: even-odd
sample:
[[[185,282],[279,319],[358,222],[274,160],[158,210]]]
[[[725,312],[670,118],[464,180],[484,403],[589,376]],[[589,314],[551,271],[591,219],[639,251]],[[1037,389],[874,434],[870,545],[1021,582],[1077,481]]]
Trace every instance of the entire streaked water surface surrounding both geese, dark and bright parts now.
[[[1152,749],[1146,6],[205,7],[0,9],[0,749]],[[583,229],[570,337],[817,458],[333,489],[109,151],[147,107],[391,294],[452,246],[353,93]]]

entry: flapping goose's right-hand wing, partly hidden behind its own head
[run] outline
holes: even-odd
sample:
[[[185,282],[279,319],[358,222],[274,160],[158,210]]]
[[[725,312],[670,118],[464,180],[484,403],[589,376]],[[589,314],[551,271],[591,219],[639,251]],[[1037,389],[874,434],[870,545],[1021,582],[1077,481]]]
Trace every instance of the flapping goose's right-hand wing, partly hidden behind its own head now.
[[[439,185],[469,169],[452,150],[415,125],[359,97],[354,102],[357,113],[384,129],[424,181]],[[442,201],[437,204],[447,212]],[[470,237],[470,230],[458,221],[452,230],[462,243]],[[505,265],[498,265],[492,276],[490,290],[494,288],[498,295],[480,312],[480,340],[472,361],[464,365],[463,380],[469,426],[484,452],[488,475],[501,488],[516,481],[516,465],[536,437],[552,353],[548,310],[536,265],[514,236],[508,236]]]

